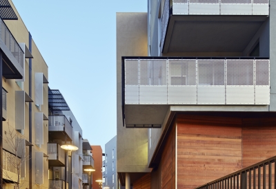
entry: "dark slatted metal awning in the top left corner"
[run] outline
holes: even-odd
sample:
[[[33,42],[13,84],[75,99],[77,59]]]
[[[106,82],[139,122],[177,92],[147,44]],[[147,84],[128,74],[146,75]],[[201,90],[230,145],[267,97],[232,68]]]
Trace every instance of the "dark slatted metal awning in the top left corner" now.
[[[18,20],[8,0],[0,0],[0,18],[2,20]]]

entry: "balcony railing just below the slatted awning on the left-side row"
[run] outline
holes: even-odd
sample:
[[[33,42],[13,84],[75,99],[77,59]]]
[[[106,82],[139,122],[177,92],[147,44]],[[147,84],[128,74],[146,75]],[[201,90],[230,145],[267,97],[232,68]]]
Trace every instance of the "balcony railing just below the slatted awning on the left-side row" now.
[[[65,115],[49,115],[49,131],[65,131],[72,139],[72,125]]]

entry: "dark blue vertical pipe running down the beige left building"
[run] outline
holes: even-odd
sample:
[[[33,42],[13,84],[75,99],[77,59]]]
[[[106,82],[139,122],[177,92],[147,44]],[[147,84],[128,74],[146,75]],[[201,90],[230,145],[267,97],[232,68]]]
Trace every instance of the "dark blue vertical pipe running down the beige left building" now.
[[[32,53],[32,35],[30,32],[29,50]],[[32,58],[29,58],[29,96],[32,98]],[[29,142],[32,143],[32,102],[29,102]],[[32,146],[29,146],[29,189],[32,189]]]

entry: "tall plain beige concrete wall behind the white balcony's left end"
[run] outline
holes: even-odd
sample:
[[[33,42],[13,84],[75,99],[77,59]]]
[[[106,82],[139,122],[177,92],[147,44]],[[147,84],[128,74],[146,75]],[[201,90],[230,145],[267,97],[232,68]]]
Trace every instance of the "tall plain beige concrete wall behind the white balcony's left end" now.
[[[147,13],[117,13],[117,172],[149,172],[147,129],[126,129],[121,110],[121,56],[147,56]]]

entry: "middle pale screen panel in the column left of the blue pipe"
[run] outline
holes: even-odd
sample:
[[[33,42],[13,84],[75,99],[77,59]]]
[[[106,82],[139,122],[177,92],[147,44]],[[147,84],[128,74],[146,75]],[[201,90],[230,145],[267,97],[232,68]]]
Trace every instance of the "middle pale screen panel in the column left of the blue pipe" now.
[[[25,129],[25,91],[15,91],[15,129]]]

